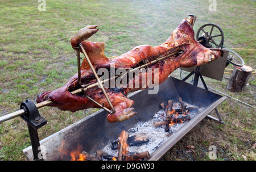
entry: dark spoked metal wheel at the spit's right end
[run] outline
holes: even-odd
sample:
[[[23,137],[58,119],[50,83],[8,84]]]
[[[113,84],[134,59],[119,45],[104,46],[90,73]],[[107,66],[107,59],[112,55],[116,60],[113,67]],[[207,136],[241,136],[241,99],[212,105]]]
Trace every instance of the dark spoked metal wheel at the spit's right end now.
[[[222,48],[224,33],[218,25],[208,23],[199,28],[196,33],[196,40],[207,48]]]

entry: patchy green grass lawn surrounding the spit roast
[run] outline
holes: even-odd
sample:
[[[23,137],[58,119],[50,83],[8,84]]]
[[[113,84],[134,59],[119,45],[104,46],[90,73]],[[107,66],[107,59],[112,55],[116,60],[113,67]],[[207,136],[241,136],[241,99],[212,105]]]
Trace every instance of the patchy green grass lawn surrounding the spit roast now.
[[[256,2],[217,1],[216,11],[209,11],[210,4],[199,0],[66,0],[46,1],[46,11],[40,12],[38,1],[0,1],[0,116],[17,110],[23,100],[35,102],[39,93],[57,89],[76,73],[76,52],[70,39],[91,24],[97,24],[100,31],[89,40],[104,42],[105,55],[111,57],[137,45],[162,44],[182,19],[195,14],[195,32],[203,24],[218,24],[225,34],[224,47],[238,48],[235,51],[245,64],[255,69]],[[232,72],[233,66],[228,68]],[[180,79],[179,70],[172,75]],[[225,124],[204,119],[162,160],[209,160],[210,145],[217,148],[217,160],[256,160],[255,108],[235,100],[256,107],[255,73],[242,93],[226,89],[230,75],[226,69],[222,81],[205,79],[209,87],[232,97],[218,107]],[[48,124],[39,129],[40,140],[95,111],[41,108]],[[26,160],[22,152],[30,145],[26,125],[20,118],[0,124],[0,160]]]

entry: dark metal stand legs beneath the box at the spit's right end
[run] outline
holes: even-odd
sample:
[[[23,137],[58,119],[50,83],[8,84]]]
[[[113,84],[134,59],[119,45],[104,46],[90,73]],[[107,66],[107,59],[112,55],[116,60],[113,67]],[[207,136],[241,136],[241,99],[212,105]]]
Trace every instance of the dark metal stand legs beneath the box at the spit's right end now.
[[[191,77],[193,74],[195,74],[195,77],[194,77],[194,79],[193,79],[193,85],[195,85],[195,86],[198,85],[198,81],[199,81],[199,77],[200,77],[200,79],[201,79],[201,81],[202,81],[202,83],[203,83],[203,85],[204,85],[205,90],[208,90],[208,87],[207,87],[206,83],[204,82],[203,75],[202,75],[201,72],[200,72],[200,66],[196,66],[196,67],[194,68],[194,70],[193,70],[191,73],[189,73],[184,79],[182,79],[182,81],[186,81],[186,80],[187,80],[189,77]],[[214,108],[214,110],[215,110],[215,112],[216,112],[216,114],[217,114],[217,116],[218,116],[218,119],[217,119],[217,118],[214,118],[213,116],[210,116],[210,115],[207,115],[207,117],[208,117],[209,119],[216,120],[216,121],[218,121],[218,122],[221,123],[221,124],[224,124],[224,121],[221,119],[221,116],[220,116],[220,113],[219,113],[218,110],[217,110],[217,107]]]

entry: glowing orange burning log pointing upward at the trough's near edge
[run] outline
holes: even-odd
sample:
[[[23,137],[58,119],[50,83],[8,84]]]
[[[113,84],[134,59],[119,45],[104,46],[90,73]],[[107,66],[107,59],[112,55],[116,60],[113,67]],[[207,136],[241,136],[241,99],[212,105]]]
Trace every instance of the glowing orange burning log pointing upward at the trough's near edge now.
[[[129,133],[126,131],[122,131],[121,134],[118,137],[118,142],[119,142],[119,152],[118,152],[118,156],[117,156],[117,160],[118,161],[123,161],[125,160],[125,155],[127,152],[127,140],[129,137]]]

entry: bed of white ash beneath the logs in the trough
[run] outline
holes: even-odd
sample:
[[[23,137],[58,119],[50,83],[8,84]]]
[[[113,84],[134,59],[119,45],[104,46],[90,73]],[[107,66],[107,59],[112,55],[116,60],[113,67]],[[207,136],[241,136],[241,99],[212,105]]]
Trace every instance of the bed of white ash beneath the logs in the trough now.
[[[192,107],[192,105],[188,104],[187,107]],[[180,108],[180,107],[174,106],[174,109],[177,109],[177,108]],[[192,119],[194,116],[197,115],[197,113],[201,112],[203,109],[204,108],[199,108],[199,110],[197,112],[189,112],[189,114],[187,114],[187,115],[189,115]],[[183,115],[179,115],[177,117],[179,118],[182,116]],[[148,142],[146,142],[146,143],[143,143],[141,145],[129,146],[129,148],[128,148],[129,153],[130,154],[140,153],[140,152],[144,152],[146,150],[150,154],[154,153],[154,151],[164,141],[166,141],[169,137],[171,137],[170,135],[172,135],[172,133],[176,132],[178,129],[180,129],[187,123],[187,121],[185,121],[184,123],[176,123],[174,125],[171,125],[169,132],[164,131],[165,126],[162,126],[162,127],[154,127],[153,126],[154,122],[163,121],[163,120],[165,120],[165,118],[166,118],[166,114],[165,114],[164,110],[160,110],[153,116],[153,118],[151,120],[146,121],[144,123],[138,122],[136,125],[137,127],[128,129],[127,132],[129,133],[129,137],[134,136],[134,135],[139,135],[142,133],[146,133],[146,135],[148,137]],[[117,157],[118,149],[113,150],[113,149],[111,149],[111,147],[112,147],[112,144],[110,142],[110,144],[106,145],[102,149],[102,151],[105,154],[109,154],[109,155]]]

